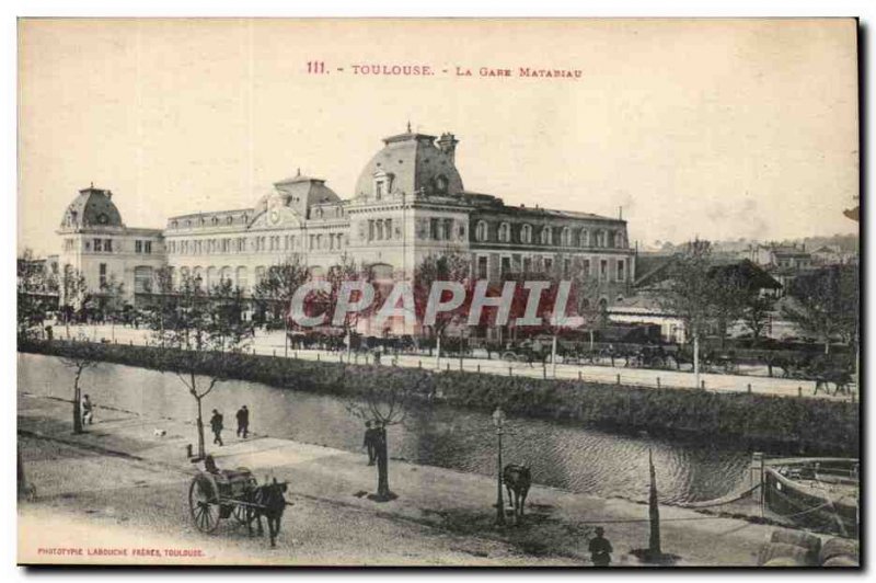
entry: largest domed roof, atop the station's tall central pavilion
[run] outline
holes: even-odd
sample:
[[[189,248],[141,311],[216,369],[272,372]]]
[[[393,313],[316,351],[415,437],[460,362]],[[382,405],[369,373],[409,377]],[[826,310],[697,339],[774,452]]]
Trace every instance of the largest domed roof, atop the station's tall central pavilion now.
[[[457,139],[411,133],[383,139],[383,149],[366,164],[356,182],[355,196],[373,196],[381,176],[388,180],[388,193],[460,194],[462,178],[454,162]]]

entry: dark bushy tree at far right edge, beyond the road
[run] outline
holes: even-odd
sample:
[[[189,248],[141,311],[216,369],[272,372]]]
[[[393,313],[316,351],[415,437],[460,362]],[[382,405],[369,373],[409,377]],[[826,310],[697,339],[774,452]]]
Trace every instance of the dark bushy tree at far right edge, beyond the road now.
[[[856,265],[830,265],[800,275],[791,285],[791,301],[783,304],[782,315],[823,342],[825,354],[834,336],[856,347],[858,277]]]

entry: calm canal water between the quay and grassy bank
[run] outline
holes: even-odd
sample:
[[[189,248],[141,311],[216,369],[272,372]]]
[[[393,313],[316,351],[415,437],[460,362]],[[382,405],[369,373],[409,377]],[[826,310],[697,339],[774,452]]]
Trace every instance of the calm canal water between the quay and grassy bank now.
[[[73,375],[59,358],[20,353],[18,363],[20,391],[71,398]],[[99,405],[148,416],[196,416],[194,399],[173,373],[104,363],[83,374],[82,386]],[[218,409],[226,418],[226,434],[232,437],[234,412],[246,404],[251,430],[258,434],[362,451],[361,421],[337,397],[233,380],[218,384],[204,404],[205,423],[209,411]],[[496,433],[488,413],[451,407],[414,411],[404,424],[389,427],[388,438],[394,458],[489,476],[496,471]],[[506,421],[503,460],[528,462],[537,483],[645,501],[649,448],[665,503],[716,499],[747,480],[750,455],[731,445],[631,436],[581,422],[512,415]]]

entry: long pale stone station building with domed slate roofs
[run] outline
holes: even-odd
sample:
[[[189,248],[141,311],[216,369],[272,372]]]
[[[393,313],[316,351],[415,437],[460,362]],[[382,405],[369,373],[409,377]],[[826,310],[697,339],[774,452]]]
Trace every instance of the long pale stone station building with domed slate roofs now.
[[[457,170],[459,140],[407,132],[383,139],[355,191],[342,198],[325,180],[278,181],[253,206],[173,216],[161,229],[127,227],[110,191],[80,191],[65,212],[61,270],[81,273],[90,290],[122,282],[131,302],[155,289],[169,266],[175,279],[199,276],[207,287],[230,279],[244,294],[275,264],[298,255],[319,277],[342,255],[395,281],[412,277],[428,255],[471,258],[473,277],[584,273],[599,301],[629,296],[635,254],[626,221],[540,206],[509,206],[465,190]],[[570,199],[580,199],[570,195]]]

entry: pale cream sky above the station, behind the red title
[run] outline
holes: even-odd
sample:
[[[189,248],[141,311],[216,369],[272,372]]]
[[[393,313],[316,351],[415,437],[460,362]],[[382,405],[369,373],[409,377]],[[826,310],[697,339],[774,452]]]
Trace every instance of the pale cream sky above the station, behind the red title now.
[[[349,197],[408,122],[456,134],[466,190],[622,207],[643,248],[855,232],[856,52],[840,19],[22,20],[19,248],[56,253],[92,182],[129,227],[252,206],[298,169]]]

